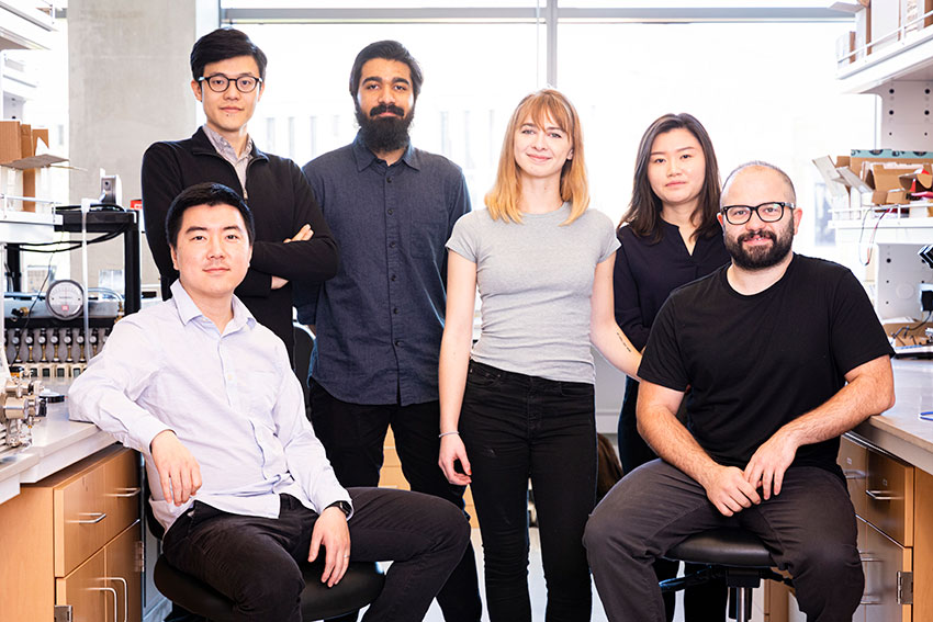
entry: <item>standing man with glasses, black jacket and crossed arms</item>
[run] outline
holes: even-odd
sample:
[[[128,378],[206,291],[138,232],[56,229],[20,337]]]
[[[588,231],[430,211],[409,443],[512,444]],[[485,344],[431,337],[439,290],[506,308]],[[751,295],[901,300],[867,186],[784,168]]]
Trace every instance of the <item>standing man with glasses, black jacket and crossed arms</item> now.
[[[236,295],[293,359],[293,289],[336,274],[337,244],[299,167],[260,151],[247,132],[266,89],[262,50],[240,31],[215,30],[194,44],[191,76],[206,123],[191,138],[156,143],[143,156],[143,215],[162,297],[171,297],[178,278],[164,233],[172,200],[195,183],[232,188],[256,215],[252,261]]]

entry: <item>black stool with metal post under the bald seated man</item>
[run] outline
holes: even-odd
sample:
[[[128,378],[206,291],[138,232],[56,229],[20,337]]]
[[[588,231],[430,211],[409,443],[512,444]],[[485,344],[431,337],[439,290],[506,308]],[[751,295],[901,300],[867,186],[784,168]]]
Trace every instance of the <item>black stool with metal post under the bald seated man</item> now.
[[[774,559],[758,536],[742,529],[712,529],[690,535],[665,557],[706,567],[686,577],[661,581],[662,591],[676,591],[723,578],[729,587],[729,618],[738,622],[751,619],[752,589],[758,587],[762,579],[793,585],[790,579],[772,570]]]

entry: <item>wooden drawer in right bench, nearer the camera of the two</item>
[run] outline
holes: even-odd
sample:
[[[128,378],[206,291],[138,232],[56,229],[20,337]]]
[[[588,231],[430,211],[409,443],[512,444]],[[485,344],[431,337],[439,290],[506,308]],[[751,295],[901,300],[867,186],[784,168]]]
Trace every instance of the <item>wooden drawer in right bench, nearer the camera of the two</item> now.
[[[913,546],[913,466],[869,449],[864,518],[901,546]]]

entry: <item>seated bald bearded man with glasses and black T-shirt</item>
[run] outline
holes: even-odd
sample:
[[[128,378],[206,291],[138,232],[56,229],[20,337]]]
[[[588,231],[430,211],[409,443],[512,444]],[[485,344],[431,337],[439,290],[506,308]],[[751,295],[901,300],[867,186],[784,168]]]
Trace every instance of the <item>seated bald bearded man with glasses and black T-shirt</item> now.
[[[596,587],[610,621],[661,622],[654,559],[741,528],[790,573],[808,620],[851,621],[864,576],[839,437],[893,405],[893,352],[852,272],[791,252],[801,213],[784,171],[743,165],[721,201],[732,262],[675,290],[652,327],[638,428],[660,459],[589,518]]]

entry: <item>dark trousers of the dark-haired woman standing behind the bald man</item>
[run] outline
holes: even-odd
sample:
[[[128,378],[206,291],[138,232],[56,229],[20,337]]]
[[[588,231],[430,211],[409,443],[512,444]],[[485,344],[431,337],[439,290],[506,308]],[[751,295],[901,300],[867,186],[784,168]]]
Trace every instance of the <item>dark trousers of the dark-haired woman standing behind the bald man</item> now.
[[[622,462],[622,472],[626,474],[657,457],[638,433],[636,418],[638,385],[637,380],[626,378],[626,397],[619,415],[619,459]],[[659,581],[671,579],[677,576],[679,567],[679,562],[657,559],[654,562],[654,574]],[[700,568],[702,566],[684,564],[684,574],[690,575]],[[667,622],[671,622],[674,620],[676,597],[673,591],[665,592],[663,597]],[[686,622],[724,622],[728,601],[729,590],[724,579],[689,587],[684,590],[684,620]]]

